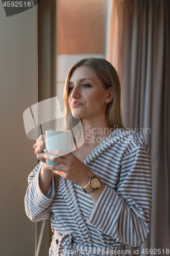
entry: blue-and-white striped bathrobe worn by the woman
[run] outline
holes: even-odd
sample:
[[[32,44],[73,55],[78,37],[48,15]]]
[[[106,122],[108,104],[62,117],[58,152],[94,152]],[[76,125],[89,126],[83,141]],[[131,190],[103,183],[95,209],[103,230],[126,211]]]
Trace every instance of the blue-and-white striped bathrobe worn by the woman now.
[[[51,218],[49,255],[125,255],[141,245],[151,217],[151,160],[140,134],[116,129],[83,161],[105,184],[96,205],[81,186],[60,177],[46,195],[39,187],[40,163],[28,178],[27,216]]]

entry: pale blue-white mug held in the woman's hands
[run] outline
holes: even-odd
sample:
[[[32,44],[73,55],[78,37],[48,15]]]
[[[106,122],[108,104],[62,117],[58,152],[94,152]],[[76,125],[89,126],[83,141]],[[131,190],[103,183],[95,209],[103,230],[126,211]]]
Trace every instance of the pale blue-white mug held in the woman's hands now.
[[[45,131],[45,148],[61,150],[70,153],[71,132]],[[59,165],[59,163],[46,159],[47,164]]]

